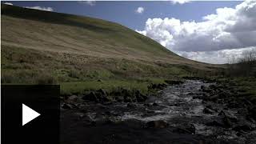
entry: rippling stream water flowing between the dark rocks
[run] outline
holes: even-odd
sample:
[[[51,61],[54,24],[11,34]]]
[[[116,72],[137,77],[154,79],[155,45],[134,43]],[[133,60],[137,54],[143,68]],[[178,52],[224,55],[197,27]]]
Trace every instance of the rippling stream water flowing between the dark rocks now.
[[[238,136],[236,131],[223,128],[222,126],[206,125],[206,123],[213,122],[213,120],[218,121],[220,110],[225,108],[221,104],[206,103],[202,102],[202,99],[194,98],[203,95],[201,86],[207,87],[212,84],[198,80],[187,80],[181,85],[167,86],[164,90],[159,91],[158,96],[150,96],[146,102],[141,103],[127,104],[125,102],[114,102],[100,104],[95,102],[78,102],[79,110],[74,110],[72,113],[80,116],[84,114],[96,123],[106,121],[106,119],[111,122],[125,122],[132,119],[142,123],[163,120],[170,126],[193,125],[195,135],[214,136],[214,138],[245,143],[246,138],[248,138],[247,136]],[[214,112],[204,114],[203,110],[209,104],[213,107]],[[62,114],[70,113],[64,111]],[[237,110],[226,110],[226,114],[239,118]],[[81,122],[82,119],[78,121]],[[111,130],[111,126],[108,129]],[[146,133],[145,131],[143,130],[141,133]],[[116,131],[114,130],[113,133],[116,133]],[[255,133],[251,132],[250,134]]]

